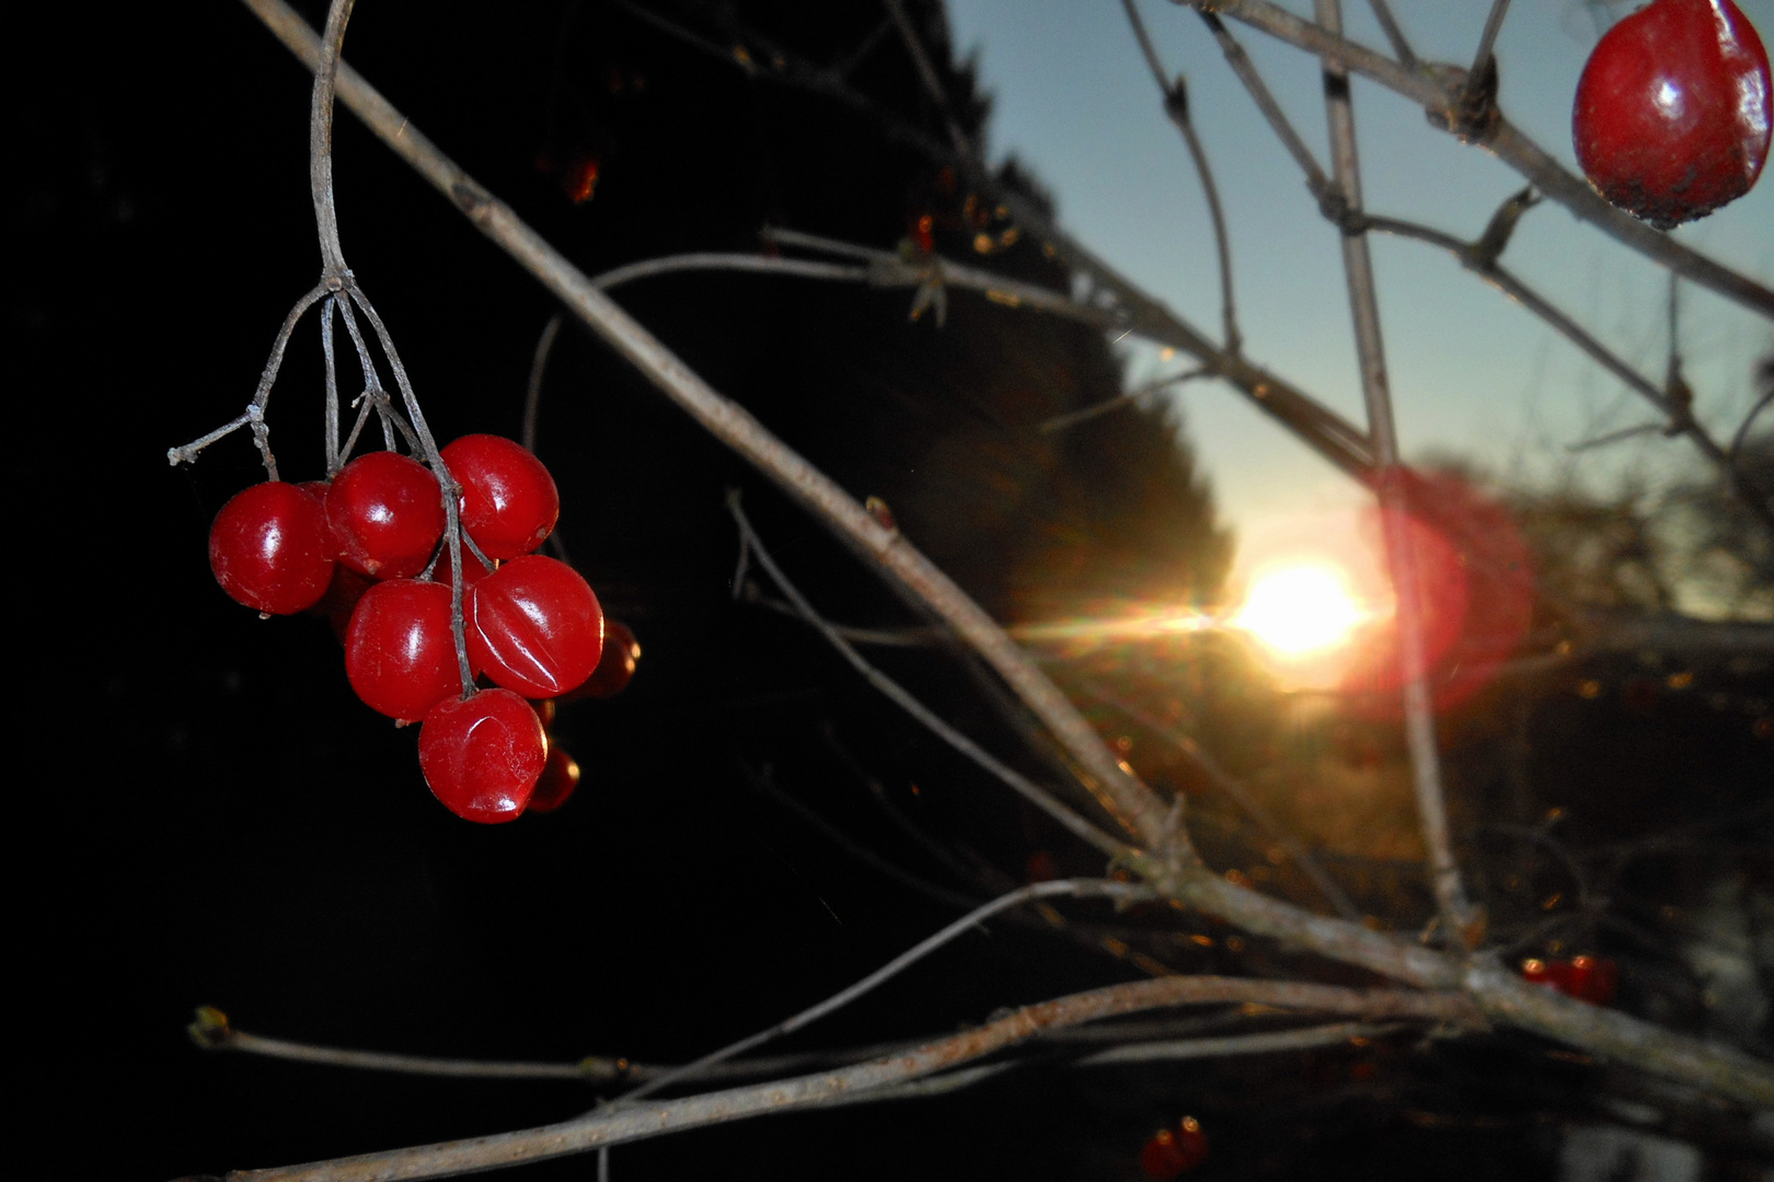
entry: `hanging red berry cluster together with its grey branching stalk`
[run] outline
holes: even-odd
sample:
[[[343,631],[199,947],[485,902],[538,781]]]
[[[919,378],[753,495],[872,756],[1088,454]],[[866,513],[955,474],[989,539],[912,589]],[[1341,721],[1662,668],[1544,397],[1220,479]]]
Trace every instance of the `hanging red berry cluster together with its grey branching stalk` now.
[[[616,657],[603,659],[603,608],[591,585],[564,562],[532,553],[561,514],[543,463],[498,436],[465,436],[438,448],[387,324],[346,266],[334,206],[332,117],[349,14],[351,0],[328,5],[309,113],[321,278],[284,317],[247,409],[170,448],[167,459],[192,463],[216,439],[250,429],[270,478],[216,514],[209,530],[216,581],[261,615],[328,615],[357,695],[397,721],[422,719],[419,767],[431,792],[458,817],[511,820],[529,806],[559,808],[578,783],[571,757],[550,753],[552,705],[530,700],[552,702],[582,686],[591,696],[608,696],[626,684],[640,650],[621,629]],[[266,409],[289,337],[316,305],[326,362],[326,480],[291,486],[277,473]],[[358,314],[394,376],[399,408]],[[357,422],[344,439],[335,317],[364,376],[364,392],[351,402]],[[387,450],[351,459],[371,415]],[[396,450],[397,439],[408,454]],[[600,663],[610,673],[593,682]],[[479,677],[490,688],[479,689]]]

